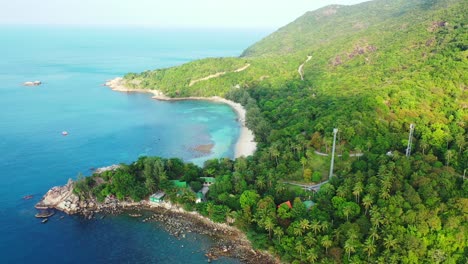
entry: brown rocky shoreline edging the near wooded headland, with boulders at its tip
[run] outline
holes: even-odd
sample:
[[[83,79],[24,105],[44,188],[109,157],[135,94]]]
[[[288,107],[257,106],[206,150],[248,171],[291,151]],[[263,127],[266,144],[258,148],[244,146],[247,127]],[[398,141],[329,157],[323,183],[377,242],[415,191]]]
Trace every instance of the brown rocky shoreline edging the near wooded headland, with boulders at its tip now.
[[[242,263],[279,263],[271,254],[254,250],[240,230],[227,224],[214,223],[197,212],[185,211],[170,202],[118,201],[114,197],[108,197],[102,203],[95,198],[84,200],[73,193],[73,186],[74,182],[70,179],[64,186],[51,188],[35,207],[38,210],[55,209],[71,215],[78,214],[86,219],[128,214],[141,218],[142,222],[164,223],[163,228],[179,239],[185,238],[187,233],[208,235],[215,241],[215,245],[205,254],[208,262],[219,257],[232,257]]]

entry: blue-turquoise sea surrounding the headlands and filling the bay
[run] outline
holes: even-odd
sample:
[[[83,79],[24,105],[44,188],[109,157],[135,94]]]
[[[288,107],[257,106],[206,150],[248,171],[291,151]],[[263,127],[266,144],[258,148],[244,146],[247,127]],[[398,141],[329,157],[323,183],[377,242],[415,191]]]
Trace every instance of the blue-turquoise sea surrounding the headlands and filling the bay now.
[[[229,106],[159,102],[102,84],[127,72],[238,56],[266,33],[0,27],[0,263],[206,263],[209,237],[178,240],[158,223],[128,216],[56,214],[41,224],[34,204],[68,178],[140,155],[197,164],[233,157],[239,125]],[[43,85],[21,85],[34,80]],[[190,151],[207,143],[215,144],[208,156]]]

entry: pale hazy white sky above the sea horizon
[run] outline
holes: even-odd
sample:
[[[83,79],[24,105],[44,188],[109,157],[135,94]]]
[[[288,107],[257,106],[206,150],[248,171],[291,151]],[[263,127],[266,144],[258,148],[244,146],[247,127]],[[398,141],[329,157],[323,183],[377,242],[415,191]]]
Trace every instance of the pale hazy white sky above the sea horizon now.
[[[4,0],[0,24],[277,28],[306,11],[365,0]]]

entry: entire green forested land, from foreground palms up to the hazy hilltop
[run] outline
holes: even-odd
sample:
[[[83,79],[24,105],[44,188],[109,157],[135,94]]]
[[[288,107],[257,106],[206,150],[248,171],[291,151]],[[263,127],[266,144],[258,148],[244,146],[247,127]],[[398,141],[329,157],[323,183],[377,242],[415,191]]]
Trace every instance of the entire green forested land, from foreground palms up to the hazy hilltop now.
[[[329,6],[240,58],[128,74],[131,87],[240,102],[259,149],[204,168],[140,159],[115,175],[132,187],[88,181],[80,188],[137,200],[168,190],[287,262],[466,263],[467,9],[465,0]],[[328,179],[333,128],[336,177],[317,193],[287,184]],[[167,184],[184,179],[196,188],[199,176],[216,183],[196,206]],[[278,206],[288,200],[292,208]],[[315,204],[307,209],[306,200]]]

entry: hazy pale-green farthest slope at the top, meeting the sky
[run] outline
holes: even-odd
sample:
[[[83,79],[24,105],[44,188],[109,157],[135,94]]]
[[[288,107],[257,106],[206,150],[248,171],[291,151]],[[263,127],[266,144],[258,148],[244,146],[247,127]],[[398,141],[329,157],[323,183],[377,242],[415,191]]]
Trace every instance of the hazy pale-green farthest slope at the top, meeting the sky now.
[[[450,8],[457,2],[379,0],[353,6],[326,6],[305,13],[246,49],[241,57],[289,54],[323,47],[361,32],[367,34],[372,28],[388,30],[385,28],[388,23],[408,17],[413,22],[423,22],[428,12]]]

